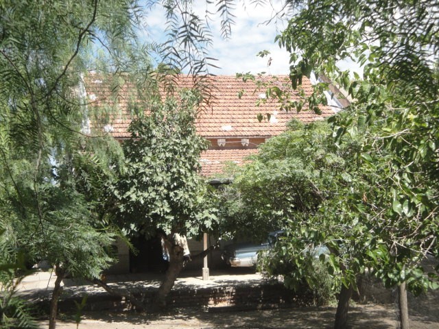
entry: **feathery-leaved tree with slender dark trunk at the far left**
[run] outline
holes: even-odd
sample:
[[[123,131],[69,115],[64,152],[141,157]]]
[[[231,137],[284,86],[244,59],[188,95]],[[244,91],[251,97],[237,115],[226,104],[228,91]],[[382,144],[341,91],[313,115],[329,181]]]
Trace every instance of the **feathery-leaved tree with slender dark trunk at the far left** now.
[[[114,52],[128,47],[136,13],[135,1],[0,3],[0,212],[14,237],[3,242],[12,262],[54,267],[50,328],[64,275],[97,278],[111,260],[114,234],[88,192],[110,179],[115,157],[103,150],[115,142],[86,134],[78,89],[99,45],[112,64],[126,60]]]

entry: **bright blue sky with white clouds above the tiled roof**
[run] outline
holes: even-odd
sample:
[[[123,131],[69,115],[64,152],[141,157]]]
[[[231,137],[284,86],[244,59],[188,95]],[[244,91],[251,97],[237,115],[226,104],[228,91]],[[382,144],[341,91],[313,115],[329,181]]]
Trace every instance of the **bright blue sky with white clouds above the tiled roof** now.
[[[266,72],[274,75],[289,73],[289,54],[281,49],[274,38],[281,31],[285,22],[266,23],[276,12],[281,10],[281,1],[272,0],[267,5],[254,5],[250,1],[236,1],[233,9],[235,25],[232,26],[230,38],[224,40],[220,33],[219,15],[212,14],[209,26],[213,34],[213,45],[209,56],[220,69],[211,68],[209,73],[216,75],[235,75],[235,73]],[[200,18],[206,16],[206,10],[215,12],[214,5],[206,8],[205,0],[195,0],[194,10]],[[143,32],[146,40],[165,40],[165,14],[163,8],[156,5],[145,17],[147,29]],[[262,50],[270,51],[265,58],[257,57]],[[268,60],[271,64],[268,66]]]

